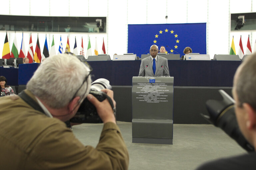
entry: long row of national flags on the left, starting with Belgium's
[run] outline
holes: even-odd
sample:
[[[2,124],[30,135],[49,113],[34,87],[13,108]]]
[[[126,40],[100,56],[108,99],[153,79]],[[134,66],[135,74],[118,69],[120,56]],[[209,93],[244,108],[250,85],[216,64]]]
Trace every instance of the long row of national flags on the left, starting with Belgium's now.
[[[15,58],[27,57],[29,59],[29,63],[33,63],[33,62],[40,63],[45,58],[47,58],[49,56],[56,55],[55,45],[54,45],[54,38],[52,40],[50,53],[49,53],[49,48],[48,48],[47,44],[48,44],[47,43],[47,38],[45,36],[43,53],[41,54],[39,39],[38,39],[38,35],[37,35],[37,43],[36,43],[36,48],[35,48],[35,53],[34,53],[33,44],[32,44],[32,36],[30,35],[29,48],[28,48],[28,53],[26,55],[25,44],[24,44],[23,33],[22,33],[21,48],[20,48],[20,52],[18,53],[17,40],[16,40],[16,34],[15,34],[15,37],[14,37],[14,40],[13,40],[13,45],[12,45],[12,50],[10,51],[10,46],[9,46],[8,37],[7,37],[7,33],[6,33],[2,58],[9,59],[10,57],[15,57]],[[64,52],[70,52],[69,39],[67,39],[67,45],[66,45],[65,51],[63,51],[62,41],[61,41],[61,37],[60,37],[60,45],[59,45],[59,49],[58,49],[58,54],[61,54],[61,53],[64,53]],[[77,50],[76,37],[75,37],[75,44],[74,44],[73,53],[75,55],[83,55],[84,56],[83,37],[82,37],[81,50],[80,50],[79,54],[78,54],[78,50]],[[94,54],[93,55],[98,55],[98,54],[99,54],[99,52],[98,52],[97,39],[96,39],[95,40],[95,49],[94,49]],[[103,39],[101,54],[106,54],[104,39]],[[88,42],[86,58],[88,58],[89,55],[92,55],[90,38],[89,38],[89,42]]]

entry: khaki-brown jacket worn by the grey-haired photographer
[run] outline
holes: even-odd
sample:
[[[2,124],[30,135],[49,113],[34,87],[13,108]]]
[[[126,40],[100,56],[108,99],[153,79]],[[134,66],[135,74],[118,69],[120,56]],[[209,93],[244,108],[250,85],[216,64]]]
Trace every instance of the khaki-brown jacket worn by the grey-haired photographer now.
[[[0,169],[128,169],[128,161],[114,123],[103,126],[96,148],[84,146],[63,122],[34,110],[19,96],[0,98]]]

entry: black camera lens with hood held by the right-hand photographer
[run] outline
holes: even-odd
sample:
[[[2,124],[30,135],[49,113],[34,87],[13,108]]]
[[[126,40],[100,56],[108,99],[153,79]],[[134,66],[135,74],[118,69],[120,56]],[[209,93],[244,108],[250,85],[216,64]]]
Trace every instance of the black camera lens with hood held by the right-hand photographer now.
[[[234,99],[224,90],[219,90],[219,93],[223,97],[223,100],[207,100],[206,108],[209,112],[209,116],[201,115],[214,126],[224,130],[245,150],[248,152],[254,151],[254,147],[244,138],[238,127],[235,115]]]

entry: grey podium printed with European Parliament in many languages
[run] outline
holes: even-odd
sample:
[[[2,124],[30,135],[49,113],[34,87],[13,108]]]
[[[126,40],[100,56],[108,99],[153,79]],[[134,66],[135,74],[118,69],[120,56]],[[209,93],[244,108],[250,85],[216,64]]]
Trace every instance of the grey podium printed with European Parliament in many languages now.
[[[172,144],[173,77],[132,78],[132,142]]]

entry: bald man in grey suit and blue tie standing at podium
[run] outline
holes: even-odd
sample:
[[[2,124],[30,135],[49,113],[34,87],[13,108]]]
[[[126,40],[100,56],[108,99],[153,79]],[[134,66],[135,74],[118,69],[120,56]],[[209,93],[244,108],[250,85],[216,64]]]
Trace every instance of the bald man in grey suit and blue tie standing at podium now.
[[[151,56],[141,60],[139,77],[170,77],[168,60],[157,55],[158,46],[150,47]]]

